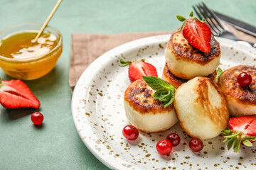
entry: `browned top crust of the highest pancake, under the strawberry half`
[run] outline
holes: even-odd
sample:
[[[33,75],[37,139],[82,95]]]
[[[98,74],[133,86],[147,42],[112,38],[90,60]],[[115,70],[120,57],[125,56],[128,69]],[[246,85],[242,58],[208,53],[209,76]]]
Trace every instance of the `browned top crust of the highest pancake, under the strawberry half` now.
[[[213,35],[210,39],[210,52],[204,53],[192,47],[181,32],[171,35],[167,48],[176,54],[176,60],[187,60],[205,65],[220,56],[220,44]]]

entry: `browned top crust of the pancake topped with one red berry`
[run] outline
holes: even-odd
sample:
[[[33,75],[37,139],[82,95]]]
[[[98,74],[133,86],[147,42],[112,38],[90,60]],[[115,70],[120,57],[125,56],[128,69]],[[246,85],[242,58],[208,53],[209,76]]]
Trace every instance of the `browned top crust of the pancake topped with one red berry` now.
[[[238,75],[247,72],[252,76],[250,86],[242,87],[238,84]],[[218,85],[226,98],[243,104],[256,106],[256,68],[247,65],[238,65],[227,69],[221,74]]]

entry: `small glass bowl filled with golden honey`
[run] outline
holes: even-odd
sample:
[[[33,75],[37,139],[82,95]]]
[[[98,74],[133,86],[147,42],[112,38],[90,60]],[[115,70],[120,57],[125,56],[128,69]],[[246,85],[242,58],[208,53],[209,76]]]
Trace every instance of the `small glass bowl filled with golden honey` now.
[[[38,79],[55,67],[63,50],[60,32],[43,24],[26,23],[0,31],[0,67],[16,79]]]

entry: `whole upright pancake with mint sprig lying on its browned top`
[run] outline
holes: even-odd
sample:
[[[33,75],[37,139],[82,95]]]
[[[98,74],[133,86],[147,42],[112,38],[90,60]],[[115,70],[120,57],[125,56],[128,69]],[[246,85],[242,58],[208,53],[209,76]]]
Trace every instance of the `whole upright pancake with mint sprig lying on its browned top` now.
[[[134,127],[144,132],[161,132],[176,124],[173,104],[164,108],[164,103],[154,99],[154,91],[144,80],[130,84],[124,92],[124,109]]]

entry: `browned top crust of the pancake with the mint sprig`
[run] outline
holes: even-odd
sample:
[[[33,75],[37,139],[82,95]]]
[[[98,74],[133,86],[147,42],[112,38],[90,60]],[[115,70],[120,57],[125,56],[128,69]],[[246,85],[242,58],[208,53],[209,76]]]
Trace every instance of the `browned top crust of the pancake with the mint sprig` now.
[[[173,109],[173,105],[164,108],[164,103],[154,99],[153,90],[144,80],[137,80],[130,84],[124,92],[124,101],[129,103],[135,111],[146,113],[166,113]]]

